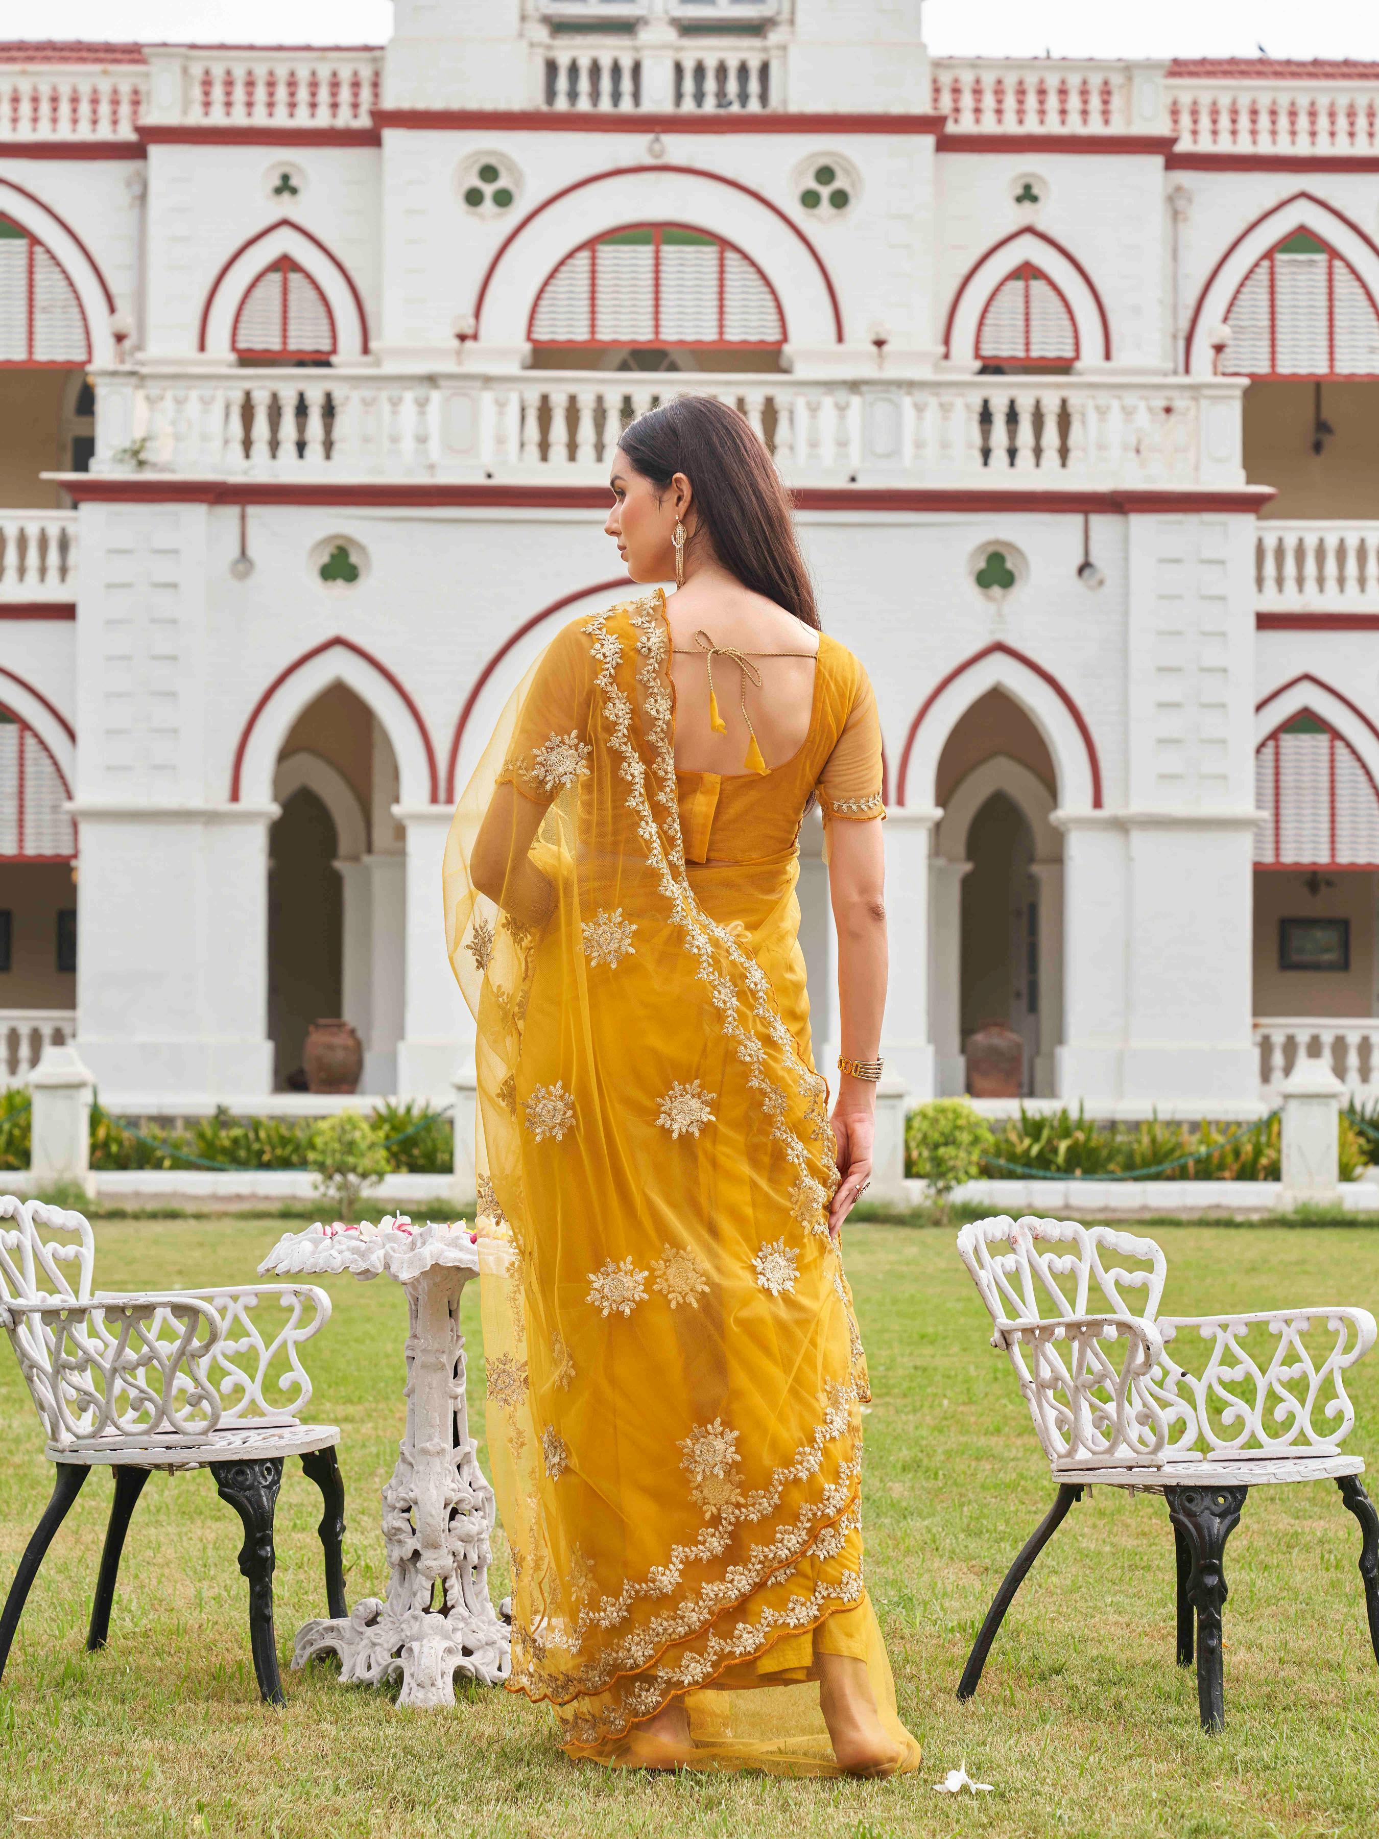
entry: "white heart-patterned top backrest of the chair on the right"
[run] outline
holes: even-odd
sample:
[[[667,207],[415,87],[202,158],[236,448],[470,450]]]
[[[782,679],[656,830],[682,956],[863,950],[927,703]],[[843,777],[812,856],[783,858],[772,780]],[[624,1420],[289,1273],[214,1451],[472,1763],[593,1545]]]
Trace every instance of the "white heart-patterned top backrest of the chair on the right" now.
[[[974,1219],[958,1234],[958,1251],[993,1322],[1074,1315],[1138,1315],[1153,1322],[1168,1276],[1168,1260],[1153,1239],[1033,1214]],[[1133,1262],[1129,1269],[1123,1260]]]

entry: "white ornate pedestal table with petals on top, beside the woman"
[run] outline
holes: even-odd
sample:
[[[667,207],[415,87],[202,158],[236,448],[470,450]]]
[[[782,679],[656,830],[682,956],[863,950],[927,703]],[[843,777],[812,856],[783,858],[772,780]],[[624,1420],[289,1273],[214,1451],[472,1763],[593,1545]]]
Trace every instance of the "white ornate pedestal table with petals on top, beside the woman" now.
[[[403,1677],[399,1705],[454,1705],[454,1675],[496,1686],[509,1631],[489,1598],[495,1501],[469,1438],[460,1296],[478,1274],[463,1225],[309,1227],[289,1232],[259,1265],[268,1273],[390,1276],[406,1289],[406,1434],[382,1490],[392,1576],[386,1602],[366,1596],[348,1616],[307,1622],[292,1666],[340,1655],[340,1681]]]

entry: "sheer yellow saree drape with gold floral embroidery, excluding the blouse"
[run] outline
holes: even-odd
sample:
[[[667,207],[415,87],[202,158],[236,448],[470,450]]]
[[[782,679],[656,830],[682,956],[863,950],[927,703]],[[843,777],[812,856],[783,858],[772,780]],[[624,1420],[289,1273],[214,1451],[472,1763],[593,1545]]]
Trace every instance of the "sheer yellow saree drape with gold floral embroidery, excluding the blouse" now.
[[[686,1696],[702,1765],[827,1775],[815,1659],[844,1653],[917,1762],[862,1583],[870,1394],[827,1232],[800,813],[759,855],[686,861],[702,787],[677,782],[669,664],[660,592],[557,633],[445,855],[511,1686],[574,1756],[616,1764]]]

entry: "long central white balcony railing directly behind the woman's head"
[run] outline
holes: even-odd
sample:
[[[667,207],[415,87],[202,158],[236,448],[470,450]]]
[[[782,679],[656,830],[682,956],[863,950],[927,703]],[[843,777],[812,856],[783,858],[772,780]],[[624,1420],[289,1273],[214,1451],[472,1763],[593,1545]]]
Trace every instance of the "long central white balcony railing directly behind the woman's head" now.
[[[96,471],[265,478],[599,480],[627,421],[677,394],[741,408],[820,484],[1239,485],[1241,381],[649,379],[454,370],[97,371]]]

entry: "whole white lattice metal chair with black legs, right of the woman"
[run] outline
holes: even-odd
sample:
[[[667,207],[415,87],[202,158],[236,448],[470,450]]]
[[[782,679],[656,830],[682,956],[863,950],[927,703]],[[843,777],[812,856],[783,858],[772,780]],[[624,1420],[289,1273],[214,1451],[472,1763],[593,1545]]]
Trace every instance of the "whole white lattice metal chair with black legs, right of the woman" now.
[[[1361,1482],[1364,1462],[1340,1451],[1355,1422],[1344,1374],[1375,1341],[1368,1309],[1160,1317],[1168,1273],[1160,1247],[1070,1219],[978,1219],[958,1234],[958,1251],[991,1311],[991,1346],[1015,1366],[1057,1482],[1054,1506],[987,1611],[960,1699],[976,1692],[1035,1558],[1083,1490],[1101,1484],[1168,1501],[1179,1664],[1193,1659],[1195,1611],[1204,1730],[1225,1723],[1223,1556],[1250,1488],[1337,1482],[1361,1525],[1364,1605],[1379,1659],[1379,1513]]]

